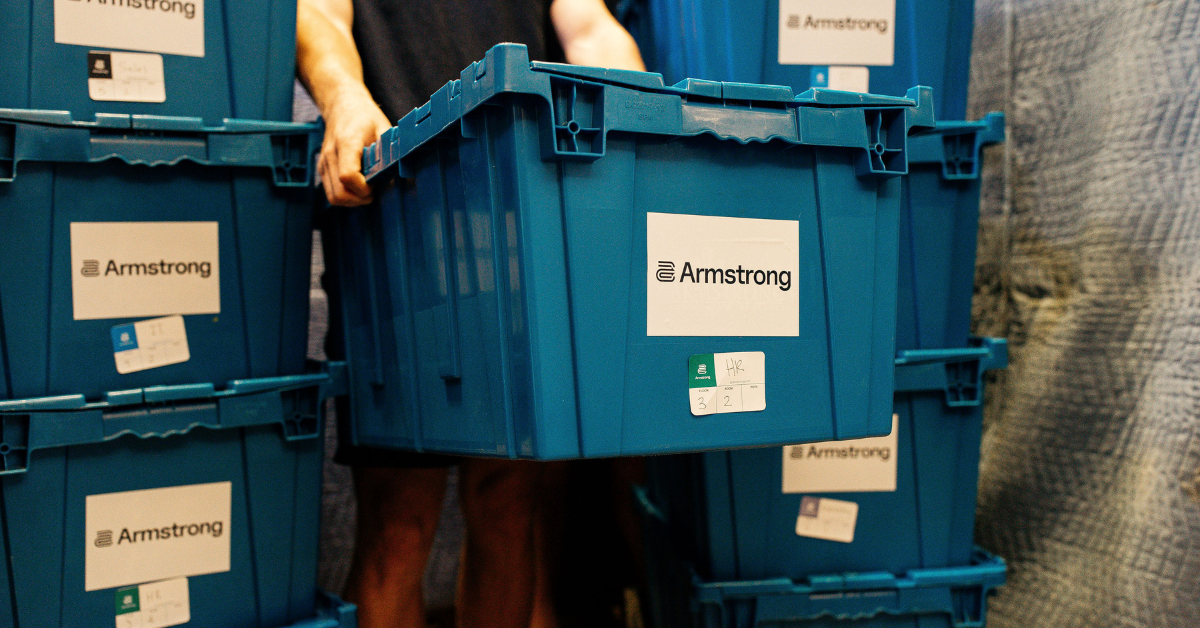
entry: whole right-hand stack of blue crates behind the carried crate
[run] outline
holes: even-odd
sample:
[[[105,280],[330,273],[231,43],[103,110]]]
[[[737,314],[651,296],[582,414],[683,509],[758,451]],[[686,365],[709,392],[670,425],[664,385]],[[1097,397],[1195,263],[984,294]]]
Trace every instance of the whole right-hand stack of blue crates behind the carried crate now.
[[[980,151],[1004,121],[955,121],[973,2],[648,0],[630,16],[647,65],[670,78],[931,85],[938,114],[910,137],[901,178],[892,432],[653,460],[652,623],[983,626],[1006,572],[972,544],[983,373],[1007,349],[971,337],[970,321]]]

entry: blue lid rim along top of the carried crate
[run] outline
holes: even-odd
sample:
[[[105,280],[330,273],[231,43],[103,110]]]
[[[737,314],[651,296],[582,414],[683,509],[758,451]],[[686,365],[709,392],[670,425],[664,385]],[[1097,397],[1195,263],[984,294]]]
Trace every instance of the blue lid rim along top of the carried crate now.
[[[824,89],[794,95],[782,85],[697,79],[667,86],[656,73],[530,61],[524,46],[504,43],[364,149],[362,172],[373,179],[402,166],[401,160],[456,124],[472,137],[473,112],[503,95],[534,96],[545,103],[550,128],[542,139],[544,160],[599,159],[610,131],[708,133],[740,143],[779,140],[902,157],[904,136],[934,127],[929,88],[895,97]],[[907,172],[902,159],[864,163],[862,173]]]

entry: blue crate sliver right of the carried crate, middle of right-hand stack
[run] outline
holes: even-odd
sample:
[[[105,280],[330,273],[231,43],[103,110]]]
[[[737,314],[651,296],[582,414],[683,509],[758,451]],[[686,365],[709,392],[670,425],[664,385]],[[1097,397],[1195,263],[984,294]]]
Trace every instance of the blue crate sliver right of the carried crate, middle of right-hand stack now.
[[[1004,140],[1004,114],[937,122],[908,138],[900,210],[896,348],[961,347],[971,334],[980,149]]]

